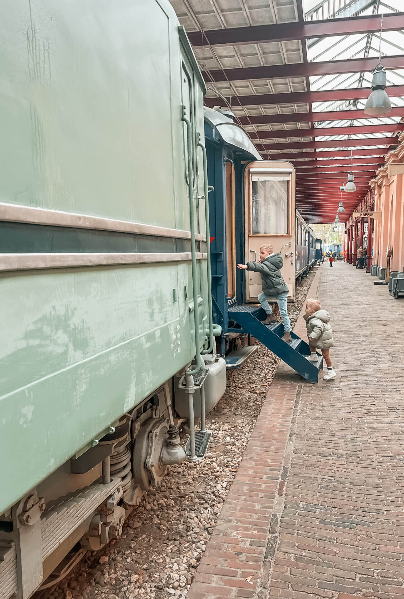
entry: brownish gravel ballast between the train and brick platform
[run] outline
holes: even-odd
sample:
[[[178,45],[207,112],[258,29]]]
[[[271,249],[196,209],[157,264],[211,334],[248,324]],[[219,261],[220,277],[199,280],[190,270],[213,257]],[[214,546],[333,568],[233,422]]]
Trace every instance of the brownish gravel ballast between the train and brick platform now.
[[[288,305],[292,328],[314,274]],[[242,367],[228,371],[226,393],[206,416],[212,438],[205,459],[170,468],[130,514],[119,540],[87,552],[68,577],[35,599],[186,597],[278,363],[259,343]]]

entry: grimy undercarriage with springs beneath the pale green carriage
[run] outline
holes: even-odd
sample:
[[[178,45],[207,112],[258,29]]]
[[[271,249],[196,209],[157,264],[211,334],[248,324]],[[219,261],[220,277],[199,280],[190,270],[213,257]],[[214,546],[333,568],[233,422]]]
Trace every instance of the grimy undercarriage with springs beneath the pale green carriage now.
[[[220,371],[224,379],[221,376],[216,398],[226,388],[224,364]],[[27,599],[53,586],[86,550],[99,550],[119,539],[124,520],[145,492],[159,484],[170,465],[186,459],[179,428],[194,429],[195,422],[193,415],[184,415],[184,407],[181,417],[172,406],[178,382],[181,376],[122,415],[107,434],[0,516],[1,599]],[[195,382],[189,390],[195,393],[201,387]]]

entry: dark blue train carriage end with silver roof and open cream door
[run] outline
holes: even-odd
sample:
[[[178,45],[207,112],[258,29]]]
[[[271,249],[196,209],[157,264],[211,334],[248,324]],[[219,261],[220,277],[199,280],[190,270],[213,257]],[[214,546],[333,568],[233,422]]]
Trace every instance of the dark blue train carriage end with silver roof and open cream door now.
[[[239,271],[238,262],[256,261],[259,247],[272,244],[284,259],[288,301],[294,301],[295,171],[288,162],[262,161],[233,114],[204,108],[211,223],[214,322],[223,334],[218,351],[228,368],[238,367],[256,350],[235,321],[237,307],[256,306],[262,291],[259,273]],[[307,253],[306,253],[307,267]]]

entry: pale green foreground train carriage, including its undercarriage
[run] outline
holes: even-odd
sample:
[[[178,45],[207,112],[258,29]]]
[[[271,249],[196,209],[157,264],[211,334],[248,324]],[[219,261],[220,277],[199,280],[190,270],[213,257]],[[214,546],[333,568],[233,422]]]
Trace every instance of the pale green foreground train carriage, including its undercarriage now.
[[[1,11],[1,599],[119,537],[226,388],[192,48],[168,0],[75,9]]]

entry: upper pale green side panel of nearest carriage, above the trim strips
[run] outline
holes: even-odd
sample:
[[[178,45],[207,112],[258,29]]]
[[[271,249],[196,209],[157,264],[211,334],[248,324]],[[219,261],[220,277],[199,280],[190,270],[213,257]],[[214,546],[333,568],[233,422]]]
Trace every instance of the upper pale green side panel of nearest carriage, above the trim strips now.
[[[183,228],[177,29],[165,1],[2,2],[0,201]]]

